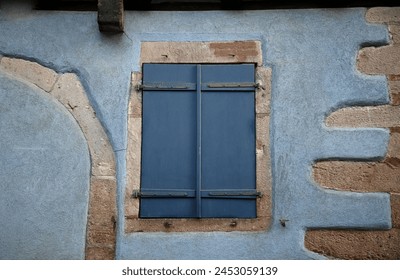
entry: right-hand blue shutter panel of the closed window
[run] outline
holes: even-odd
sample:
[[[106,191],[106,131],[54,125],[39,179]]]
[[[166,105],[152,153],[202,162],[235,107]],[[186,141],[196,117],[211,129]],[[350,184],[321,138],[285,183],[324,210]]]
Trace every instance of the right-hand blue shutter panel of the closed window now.
[[[202,84],[254,83],[254,65],[207,65]],[[208,88],[202,92],[202,217],[256,217],[254,88]],[[228,196],[223,193],[228,191]]]

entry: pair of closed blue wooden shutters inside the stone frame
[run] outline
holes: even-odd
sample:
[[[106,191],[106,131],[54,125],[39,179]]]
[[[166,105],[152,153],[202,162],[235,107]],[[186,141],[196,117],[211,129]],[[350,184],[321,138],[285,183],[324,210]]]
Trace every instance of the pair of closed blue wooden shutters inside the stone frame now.
[[[144,64],[141,218],[255,218],[253,64]]]

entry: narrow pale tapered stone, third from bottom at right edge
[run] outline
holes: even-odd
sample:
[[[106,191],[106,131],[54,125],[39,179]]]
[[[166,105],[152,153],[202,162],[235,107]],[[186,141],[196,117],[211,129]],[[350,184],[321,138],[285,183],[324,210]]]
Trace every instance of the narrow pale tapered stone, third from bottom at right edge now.
[[[366,106],[340,109],[326,118],[330,127],[399,127],[400,106]]]

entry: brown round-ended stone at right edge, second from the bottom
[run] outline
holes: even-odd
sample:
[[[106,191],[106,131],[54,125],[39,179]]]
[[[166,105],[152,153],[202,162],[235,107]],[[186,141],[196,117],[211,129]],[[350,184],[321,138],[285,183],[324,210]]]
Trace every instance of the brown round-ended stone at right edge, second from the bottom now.
[[[314,179],[324,188],[356,192],[400,192],[400,160],[329,161],[314,165]]]

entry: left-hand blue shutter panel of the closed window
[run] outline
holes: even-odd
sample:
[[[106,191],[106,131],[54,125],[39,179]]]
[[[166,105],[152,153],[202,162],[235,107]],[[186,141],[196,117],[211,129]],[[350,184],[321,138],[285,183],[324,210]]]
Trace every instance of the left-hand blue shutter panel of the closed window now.
[[[196,215],[196,91],[171,89],[195,82],[193,65],[144,65],[143,84],[159,88],[143,90],[142,218]]]

